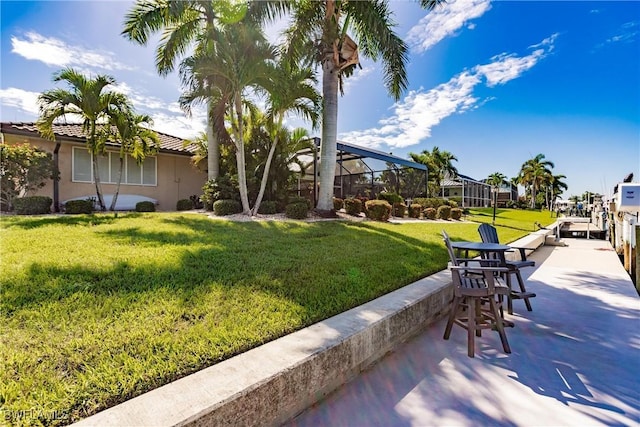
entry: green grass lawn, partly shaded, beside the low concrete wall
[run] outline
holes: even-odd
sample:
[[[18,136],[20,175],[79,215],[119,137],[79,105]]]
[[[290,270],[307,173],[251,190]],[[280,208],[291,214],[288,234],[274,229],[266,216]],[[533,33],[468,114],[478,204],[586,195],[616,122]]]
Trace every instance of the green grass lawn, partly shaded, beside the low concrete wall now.
[[[552,222],[497,218],[504,242]],[[454,221],[2,217],[0,416],[76,421],[393,291],[446,267],[442,229],[479,240]]]

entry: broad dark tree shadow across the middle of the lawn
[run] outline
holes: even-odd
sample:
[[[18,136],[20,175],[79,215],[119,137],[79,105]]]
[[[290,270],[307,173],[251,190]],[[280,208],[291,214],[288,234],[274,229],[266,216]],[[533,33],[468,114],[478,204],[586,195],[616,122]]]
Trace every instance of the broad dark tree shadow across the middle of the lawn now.
[[[97,218],[103,224],[114,220]],[[36,220],[40,225],[88,225],[92,221],[90,216]],[[175,259],[159,263],[150,255],[147,260],[99,268],[85,267],[81,260],[64,267],[34,263],[25,267],[24,277],[4,280],[3,311],[11,314],[64,301],[77,292],[117,298],[166,289],[188,302],[212,288],[221,292],[246,288],[298,304],[306,312],[307,323],[312,323],[446,267],[442,245],[371,225],[226,222],[195,216],[163,221],[178,225],[178,231],[125,227],[96,233],[113,242],[135,245],[141,253],[149,250],[154,254],[150,248],[170,245]],[[390,251],[394,256],[389,256]]]

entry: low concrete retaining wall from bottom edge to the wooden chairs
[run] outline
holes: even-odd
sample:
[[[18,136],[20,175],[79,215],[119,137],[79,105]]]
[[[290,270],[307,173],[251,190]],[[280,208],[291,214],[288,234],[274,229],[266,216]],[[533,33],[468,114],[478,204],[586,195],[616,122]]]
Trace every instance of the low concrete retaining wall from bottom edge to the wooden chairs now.
[[[441,271],[75,425],[278,425],[444,316],[452,296]]]

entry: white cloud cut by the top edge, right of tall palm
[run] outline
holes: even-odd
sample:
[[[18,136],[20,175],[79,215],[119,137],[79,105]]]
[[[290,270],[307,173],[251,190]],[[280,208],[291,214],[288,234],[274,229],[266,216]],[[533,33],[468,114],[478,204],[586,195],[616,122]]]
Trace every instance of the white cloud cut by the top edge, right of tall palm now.
[[[418,53],[429,50],[440,40],[455,34],[471,19],[482,16],[491,9],[489,0],[454,0],[436,7],[418,22],[407,34],[407,43]],[[473,29],[473,24],[467,28]]]

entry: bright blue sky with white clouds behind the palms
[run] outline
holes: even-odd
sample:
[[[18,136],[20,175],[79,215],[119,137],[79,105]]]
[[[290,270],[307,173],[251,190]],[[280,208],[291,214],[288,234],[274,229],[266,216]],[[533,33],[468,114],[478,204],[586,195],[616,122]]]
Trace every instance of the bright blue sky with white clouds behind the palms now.
[[[114,76],[158,131],[204,130],[202,109],[185,117],[177,105],[177,73],[155,72],[158,38],[144,47],[120,35],[131,2],[0,5],[2,121],[36,120],[38,94],[69,66]],[[437,146],[475,179],[513,177],[542,153],[567,177],[564,198],[609,196],[630,172],[640,180],[640,2],[459,0],[428,14],[417,1],[390,5],[411,47],[409,89],[394,102],[380,64],[364,59],[339,100],[339,139],[403,158]]]

